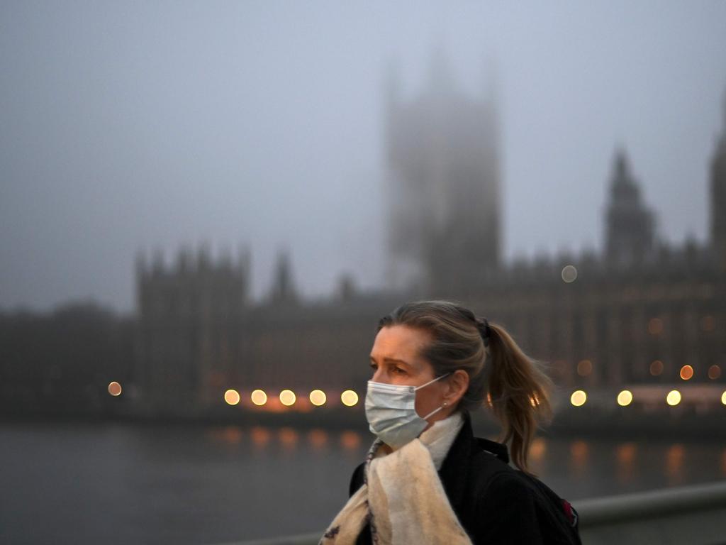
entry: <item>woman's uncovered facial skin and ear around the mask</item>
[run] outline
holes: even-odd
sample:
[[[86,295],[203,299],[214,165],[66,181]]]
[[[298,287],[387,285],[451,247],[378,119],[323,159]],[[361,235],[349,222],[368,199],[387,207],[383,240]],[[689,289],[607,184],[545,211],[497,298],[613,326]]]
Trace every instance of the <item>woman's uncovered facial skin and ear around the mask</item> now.
[[[431,336],[421,329],[408,326],[388,326],[378,331],[370,352],[371,380],[386,384],[420,386],[434,379],[433,367],[421,354]],[[449,384],[441,379],[416,391],[416,412],[425,416],[441,407],[449,394]],[[452,407],[433,414],[430,424],[449,416]]]

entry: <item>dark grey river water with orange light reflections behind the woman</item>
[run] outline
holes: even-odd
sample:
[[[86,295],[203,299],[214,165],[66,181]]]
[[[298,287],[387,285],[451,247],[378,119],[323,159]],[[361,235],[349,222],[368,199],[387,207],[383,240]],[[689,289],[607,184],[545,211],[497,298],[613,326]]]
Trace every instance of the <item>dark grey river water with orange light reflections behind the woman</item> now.
[[[218,544],[324,530],[372,436],[353,430],[0,425],[0,542]],[[577,499],[726,479],[723,442],[540,438]]]

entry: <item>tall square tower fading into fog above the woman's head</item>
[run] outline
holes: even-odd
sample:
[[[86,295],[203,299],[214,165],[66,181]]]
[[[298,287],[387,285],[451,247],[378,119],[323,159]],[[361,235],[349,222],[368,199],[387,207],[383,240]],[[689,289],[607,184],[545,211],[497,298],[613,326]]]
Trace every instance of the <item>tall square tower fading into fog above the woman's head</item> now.
[[[429,84],[386,91],[388,275],[397,288],[477,294],[500,265],[499,127],[494,92],[457,89],[442,52]]]

